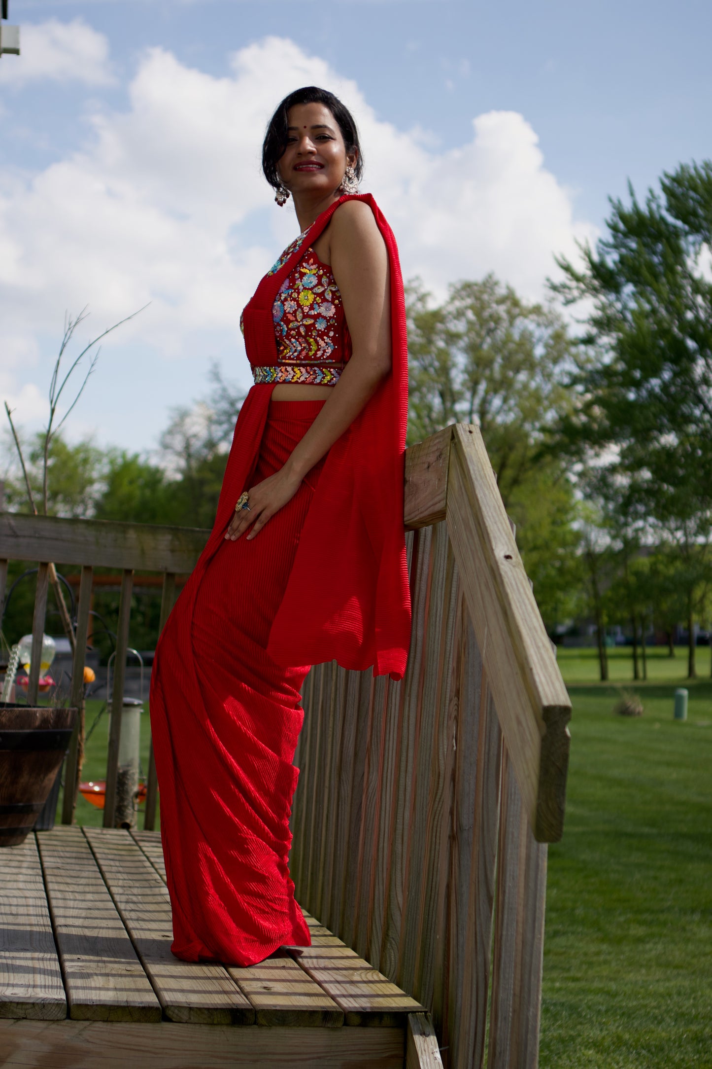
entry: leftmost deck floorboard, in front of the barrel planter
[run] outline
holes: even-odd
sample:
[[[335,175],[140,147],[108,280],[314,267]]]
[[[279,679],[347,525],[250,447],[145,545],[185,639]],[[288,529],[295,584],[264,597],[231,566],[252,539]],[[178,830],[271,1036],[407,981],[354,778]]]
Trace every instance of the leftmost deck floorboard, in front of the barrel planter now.
[[[0,861],[0,1018],[64,1018],[66,1000],[34,835],[6,847]]]

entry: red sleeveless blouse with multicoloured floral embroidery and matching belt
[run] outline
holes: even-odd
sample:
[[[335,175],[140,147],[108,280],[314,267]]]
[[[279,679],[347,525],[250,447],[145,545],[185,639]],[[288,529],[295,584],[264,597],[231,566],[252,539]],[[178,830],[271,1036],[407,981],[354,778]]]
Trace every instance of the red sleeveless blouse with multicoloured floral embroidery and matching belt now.
[[[301,246],[300,234],[268,275],[274,275]],[[351,356],[351,336],[331,267],[308,248],[287,275],[272,305],[276,363],[254,367],[255,383],[335,386]],[[242,327],[242,316],[240,316]]]

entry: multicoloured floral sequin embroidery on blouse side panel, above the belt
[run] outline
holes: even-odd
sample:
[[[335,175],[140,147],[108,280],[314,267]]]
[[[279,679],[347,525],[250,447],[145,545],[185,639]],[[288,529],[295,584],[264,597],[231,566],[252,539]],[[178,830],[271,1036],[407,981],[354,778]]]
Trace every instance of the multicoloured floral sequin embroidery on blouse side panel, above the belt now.
[[[329,360],[339,342],[342,297],[331,269],[312,249],[287,276],[272,306],[280,363]]]

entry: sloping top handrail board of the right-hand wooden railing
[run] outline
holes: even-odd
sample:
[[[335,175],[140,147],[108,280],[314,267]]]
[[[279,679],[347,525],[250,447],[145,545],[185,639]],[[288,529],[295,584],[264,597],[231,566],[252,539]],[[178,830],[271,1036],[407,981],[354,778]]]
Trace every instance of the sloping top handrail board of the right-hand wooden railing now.
[[[454,431],[447,527],[527,816],[539,840],[556,841],[571,702],[476,427]]]

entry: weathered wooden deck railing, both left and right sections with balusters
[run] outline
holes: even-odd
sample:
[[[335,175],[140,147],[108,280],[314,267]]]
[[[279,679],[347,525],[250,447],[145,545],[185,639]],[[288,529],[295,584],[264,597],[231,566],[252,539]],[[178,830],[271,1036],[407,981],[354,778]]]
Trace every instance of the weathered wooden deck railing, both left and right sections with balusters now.
[[[526,1069],[537,1062],[545,843],[563,831],[570,703],[477,428],[457,424],[407,451],[405,521],[413,600],[406,678],[325,664],[304,684],[297,897],[430,1008],[449,1069],[484,1064],[488,1022],[490,1069]],[[72,703],[81,707],[93,569],[121,570],[118,709],[135,573],[163,573],[162,628],[175,575],[191,571],[207,536],[0,514],[0,599],[9,559],[39,562],[38,641],[49,562],[81,566],[72,680]],[[106,826],[120,731],[113,716]],[[76,737],[65,822],[78,747]],[[155,807],[152,761],[146,827]]]

